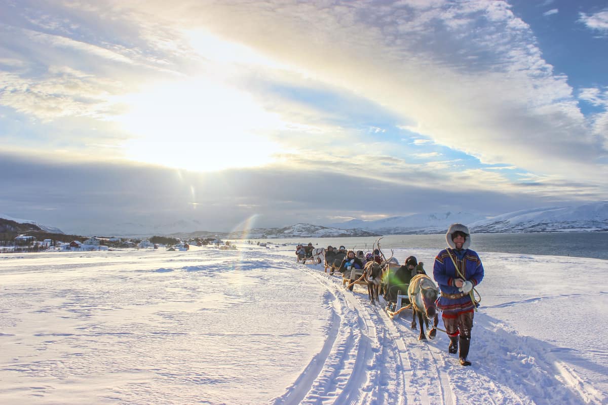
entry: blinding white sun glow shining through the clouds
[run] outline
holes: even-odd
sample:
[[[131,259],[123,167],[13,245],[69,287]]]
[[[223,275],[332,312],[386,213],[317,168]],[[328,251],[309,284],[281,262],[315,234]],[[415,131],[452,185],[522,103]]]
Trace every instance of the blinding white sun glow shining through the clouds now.
[[[267,165],[281,152],[264,134],[285,123],[250,95],[221,83],[162,84],[121,101],[129,106],[117,121],[133,134],[122,145],[130,160],[217,171]]]

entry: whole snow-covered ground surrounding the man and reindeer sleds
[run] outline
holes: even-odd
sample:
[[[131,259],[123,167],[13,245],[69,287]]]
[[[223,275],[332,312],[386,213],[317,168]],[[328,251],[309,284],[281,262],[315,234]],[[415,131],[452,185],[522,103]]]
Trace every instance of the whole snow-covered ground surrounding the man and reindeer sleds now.
[[[608,261],[482,260],[461,367],[293,247],[3,254],[0,403],[608,403]]]

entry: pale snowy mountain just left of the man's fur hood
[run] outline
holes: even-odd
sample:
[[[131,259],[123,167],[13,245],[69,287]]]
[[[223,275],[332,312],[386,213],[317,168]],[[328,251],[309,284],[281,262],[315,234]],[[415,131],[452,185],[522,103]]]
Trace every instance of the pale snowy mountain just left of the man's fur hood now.
[[[331,223],[336,228],[361,228],[383,235],[441,233],[455,222],[471,223],[485,219],[485,216],[471,213],[430,213],[389,217],[375,221],[353,219],[348,222]]]

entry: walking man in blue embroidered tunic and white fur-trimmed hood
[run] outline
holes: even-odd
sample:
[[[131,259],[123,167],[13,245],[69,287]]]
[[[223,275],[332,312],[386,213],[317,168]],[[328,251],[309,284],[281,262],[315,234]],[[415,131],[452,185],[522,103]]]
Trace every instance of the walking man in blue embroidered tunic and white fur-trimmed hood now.
[[[458,352],[460,364],[471,366],[468,360],[475,302],[471,290],[483,280],[483,265],[471,246],[469,228],[461,223],[450,225],[446,233],[446,248],[435,257],[433,276],[441,290],[437,308],[443,318],[450,344],[449,353]]]

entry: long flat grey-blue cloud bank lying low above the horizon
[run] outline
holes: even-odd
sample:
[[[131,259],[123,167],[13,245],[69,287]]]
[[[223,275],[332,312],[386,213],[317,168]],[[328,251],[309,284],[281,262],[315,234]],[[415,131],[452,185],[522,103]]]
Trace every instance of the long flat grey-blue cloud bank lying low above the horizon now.
[[[475,180],[483,183],[486,179],[481,177],[489,176],[485,171],[455,173],[452,181],[460,183],[454,189],[438,186],[437,176],[416,179],[416,172],[409,172],[402,182],[285,166],[205,174],[133,163],[65,163],[6,154],[1,156],[0,170],[19,173],[0,179],[5,191],[0,212],[78,234],[136,233],[180,220],[197,221],[204,230],[225,231],[253,214],[260,217],[259,226],[312,219],[323,224],[336,216],[399,215],[406,202],[408,212],[443,211],[449,206],[499,214],[514,203],[534,206],[534,199],[527,196],[539,192],[517,185],[508,193],[476,188]],[[489,180],[506,181],[496,174]],[[537,179],[526,182],[532,180]],[[563,191],[559,185],[553,187]],[[475,199],[469,198],[471,192]]]

